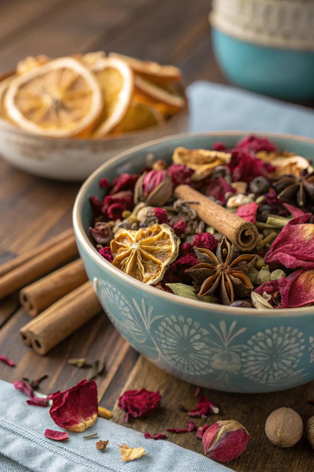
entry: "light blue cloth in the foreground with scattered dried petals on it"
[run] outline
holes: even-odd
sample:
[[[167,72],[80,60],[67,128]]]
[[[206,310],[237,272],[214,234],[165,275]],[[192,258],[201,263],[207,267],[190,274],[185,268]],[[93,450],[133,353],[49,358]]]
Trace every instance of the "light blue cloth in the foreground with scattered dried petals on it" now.
[[[50,418],[49,407],[27,405],[26,400],[12,384],[0,380],[0,472],[230,472],[196,452],[145,439],[142,433],[102,418],[86,431],[69,432],[67,441],[45,438],[47,428],[62,429]],[[83,439],[95,432],[97,437]],[[99,439],[109,439],[105,451],[96,449]],[[121,462],[121,443],[144,447],[146,455]]]

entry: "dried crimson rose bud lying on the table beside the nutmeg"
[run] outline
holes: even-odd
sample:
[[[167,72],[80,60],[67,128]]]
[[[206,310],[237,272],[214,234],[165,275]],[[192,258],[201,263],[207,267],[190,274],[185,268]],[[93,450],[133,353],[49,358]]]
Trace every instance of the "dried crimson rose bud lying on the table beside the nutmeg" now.
[[[250,434],[238,421],[217,421],[203,434],[203,447],[209,459],[226,463],[238,457],[248,444]]]

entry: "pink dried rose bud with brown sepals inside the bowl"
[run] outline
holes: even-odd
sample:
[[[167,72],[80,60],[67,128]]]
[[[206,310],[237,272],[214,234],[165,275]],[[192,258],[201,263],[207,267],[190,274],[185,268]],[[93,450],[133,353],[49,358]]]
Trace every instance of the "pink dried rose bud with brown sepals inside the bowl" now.
[[[137,179],[134,189],[134,203],[161,206],[172,194],[171,177],[166,170],[151,170]]]

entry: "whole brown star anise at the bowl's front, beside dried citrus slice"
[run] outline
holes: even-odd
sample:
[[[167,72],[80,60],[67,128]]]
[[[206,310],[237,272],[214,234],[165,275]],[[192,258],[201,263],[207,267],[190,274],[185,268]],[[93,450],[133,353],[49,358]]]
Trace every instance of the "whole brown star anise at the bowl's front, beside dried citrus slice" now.
[[[224,305],[233,303],[234,295],[237,298],[250,297],[254,287],[245,274],[254,268],[256,255],[242,254],[234,259],[234,246],[225,237],[218,244],[216,255],[208,249],[194,247],[194,251],[200,264],[185,272],[196,282],[202,282],[197,296],[210,295],[219,290],[220,300]]]

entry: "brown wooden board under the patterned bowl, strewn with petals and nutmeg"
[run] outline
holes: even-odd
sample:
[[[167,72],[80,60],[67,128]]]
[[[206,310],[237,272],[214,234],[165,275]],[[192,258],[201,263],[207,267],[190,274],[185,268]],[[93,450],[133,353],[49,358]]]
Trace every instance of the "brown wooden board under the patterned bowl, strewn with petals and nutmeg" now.
[[[175,434],[167,428],[184,428],[189,420],[187,413],[180,412],[178,405],[192,409],[196,405],[195,386],[175,379],[140,356],[122,391],[131,389],[159,390],[162,395],[161,408],[151,417],[136,419],[124,423],[129,428],[141,432],[165,433],[170,441],[179,446],[203,453],[201,440],[194,433]],[[244,453],[228,467],[236,472],[312,472],[314,470],[313,448],[304,437],[294,447],[280,448],[274,446],[265,434],[267,416],[276,408],[289,406],[296,410],[304,423],[314,415],[314,406],[307,399],[314,397],[314,382],[285,392],[266,395],[240,395],[215,390],[203,393],[220,408],[220,413],[208,418],[195,419],[197,426],[213,424],[217,420],[237,420],[250,432],[251,438]],[[113,421],[121,422],[123,412],[115,405]],[[143,446],[145,439],[143,438]],[[289,464],[289,465],[288,465]]]

